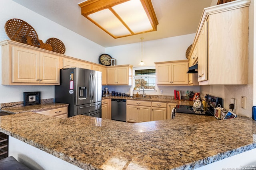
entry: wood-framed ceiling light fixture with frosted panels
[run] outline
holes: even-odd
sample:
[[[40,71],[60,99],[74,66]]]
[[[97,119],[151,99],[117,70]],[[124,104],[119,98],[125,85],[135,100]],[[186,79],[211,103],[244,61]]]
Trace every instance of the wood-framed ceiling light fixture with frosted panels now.
[[[151,0],[88,0],[81,14],[114,38],[156,31]]]

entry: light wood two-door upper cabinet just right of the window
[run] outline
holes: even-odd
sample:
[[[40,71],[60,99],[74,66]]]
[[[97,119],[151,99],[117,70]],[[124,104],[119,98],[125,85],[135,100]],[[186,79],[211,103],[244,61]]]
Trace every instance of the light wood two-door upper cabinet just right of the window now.
[[[155,64],[157,85],[188,85],[188,60]]]

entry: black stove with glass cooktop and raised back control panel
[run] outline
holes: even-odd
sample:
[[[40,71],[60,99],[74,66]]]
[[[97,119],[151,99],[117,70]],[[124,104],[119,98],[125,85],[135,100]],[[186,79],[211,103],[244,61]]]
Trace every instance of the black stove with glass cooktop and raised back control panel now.
[[[222,98],[211,96],[209,94],[207,94],[204,98],[207,104],[206,108],[194,108],[193,106],[177,105],[175,112],[214,116],[214,107],[218,107],[219,104],[222,106]]]

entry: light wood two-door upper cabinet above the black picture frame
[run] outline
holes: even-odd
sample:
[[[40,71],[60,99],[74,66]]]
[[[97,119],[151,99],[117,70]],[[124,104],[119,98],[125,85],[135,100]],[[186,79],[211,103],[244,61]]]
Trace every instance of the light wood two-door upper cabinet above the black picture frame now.
[[[2,46],[2,84],[59,85],[61,57],[53,52],[5,40]]]

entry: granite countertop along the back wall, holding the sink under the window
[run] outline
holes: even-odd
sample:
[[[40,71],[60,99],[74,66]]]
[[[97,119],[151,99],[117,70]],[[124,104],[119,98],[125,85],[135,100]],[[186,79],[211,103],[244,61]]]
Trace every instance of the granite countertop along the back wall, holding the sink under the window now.
[[[150,96],[151,97],[151,96]],[[108,96],[108,97],[102,97],[102,100],[104,99],[126,99],[126,100],[144,100],[148,102],[166,102],[166,103],[175,103],[178,105],[187,105],[187,106],[193,106],[194,102],[190,100],[175,100],[168,96],[156,96],[152,98],[130,98],[130,97],[122,97],[122,96]]]

